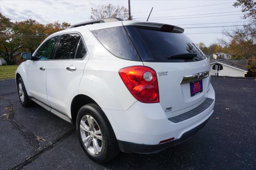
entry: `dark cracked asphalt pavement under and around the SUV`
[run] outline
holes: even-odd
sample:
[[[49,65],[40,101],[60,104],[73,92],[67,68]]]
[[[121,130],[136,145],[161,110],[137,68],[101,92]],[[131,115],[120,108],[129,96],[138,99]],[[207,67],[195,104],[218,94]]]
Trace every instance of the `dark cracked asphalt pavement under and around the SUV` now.
[[[14,79],[0,81],[0,169],[256,169],[256,82],[211,82],[214,113],[190,140],[100,165],[84,154],[72,125],[36,104],[22,107]]]

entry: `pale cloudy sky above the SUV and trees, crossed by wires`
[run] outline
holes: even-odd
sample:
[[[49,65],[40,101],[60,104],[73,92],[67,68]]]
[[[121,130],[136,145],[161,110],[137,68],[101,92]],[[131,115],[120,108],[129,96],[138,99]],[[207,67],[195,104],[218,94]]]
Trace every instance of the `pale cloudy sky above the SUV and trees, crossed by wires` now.
[[[0,12],[12,21],[31,18],[44,24],[53,21],[74,24],[90,20],[91,8],[108,3],[128,8],[128,0],[0,0]],[[234,0],[131,0],[131,13],[135,20],[146,21],[149,11],[154,7],[149,21],[179,25],[185,28],[185,33],[195,43],[210,45],[217,38],[224,37],[221,34],[223,27],[210,26],[246,23],[242,19],[241,9],[234,8],[233,3]]]

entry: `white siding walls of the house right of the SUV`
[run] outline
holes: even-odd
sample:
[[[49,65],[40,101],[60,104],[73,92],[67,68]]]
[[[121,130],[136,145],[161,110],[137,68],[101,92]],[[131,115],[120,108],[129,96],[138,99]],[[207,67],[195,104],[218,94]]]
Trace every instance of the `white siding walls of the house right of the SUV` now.
[[[210,75],[213,75],[213,76],[214,76],[214,71],[215,70],[212,69],[212,66],[214,64],[216,64],[216,63],[210,64],[210,66],[211,66]],[[221,64],[221,63],[219,63],[219,64]],[[225,66],[224,64],[221,64],[221,65],[223,66],[223,70],[220,70],[219,76],[244,77],[244,72],[245,71],[241,71],[241,70],[238,70],[236,68]]]

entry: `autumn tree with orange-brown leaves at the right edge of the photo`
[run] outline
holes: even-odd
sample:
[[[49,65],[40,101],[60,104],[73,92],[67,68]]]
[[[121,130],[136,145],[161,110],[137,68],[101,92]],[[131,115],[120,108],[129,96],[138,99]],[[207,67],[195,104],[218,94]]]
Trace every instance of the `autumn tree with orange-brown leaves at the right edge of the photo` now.
[[[224,29],[224,35],[229,40],[229,51],[233,59],[248,59],[249,72],[256,72],[256,1],[236,0],[233,6],[242,8],[244,19],[250,19],[244,26]]]

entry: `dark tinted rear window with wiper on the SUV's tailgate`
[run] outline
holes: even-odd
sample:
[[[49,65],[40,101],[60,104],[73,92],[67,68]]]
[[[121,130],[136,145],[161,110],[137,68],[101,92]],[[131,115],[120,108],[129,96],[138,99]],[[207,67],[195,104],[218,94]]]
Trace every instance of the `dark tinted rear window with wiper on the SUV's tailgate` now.
[[[125,26],[142,61],[192,62],[206,59],[184,33],[162,32],[153,27]]]

